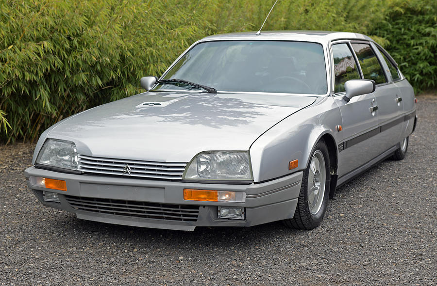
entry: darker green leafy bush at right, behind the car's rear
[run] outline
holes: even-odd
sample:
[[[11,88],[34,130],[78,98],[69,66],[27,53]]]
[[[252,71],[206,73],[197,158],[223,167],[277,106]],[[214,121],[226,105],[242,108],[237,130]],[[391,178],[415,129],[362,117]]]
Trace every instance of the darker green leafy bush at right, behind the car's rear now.
[[[437,86],[437,2],[396,1],[371,31],[398,62],[416,92]]]

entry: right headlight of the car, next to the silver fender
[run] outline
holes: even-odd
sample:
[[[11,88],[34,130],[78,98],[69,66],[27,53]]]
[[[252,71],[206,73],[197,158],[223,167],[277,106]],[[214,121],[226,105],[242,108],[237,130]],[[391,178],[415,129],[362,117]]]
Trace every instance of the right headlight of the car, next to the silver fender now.
[[[252,180],[246,151],[206,151],[188,163],[183,179]]]

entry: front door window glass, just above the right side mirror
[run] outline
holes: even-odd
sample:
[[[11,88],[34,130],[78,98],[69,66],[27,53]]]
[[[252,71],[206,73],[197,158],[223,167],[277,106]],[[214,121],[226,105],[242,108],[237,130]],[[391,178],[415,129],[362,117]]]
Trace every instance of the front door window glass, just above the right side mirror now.
[[[360,75],[348,44],[332,45],[332,55],[336,73],[335,93],[344,92],[344,83],[349,79],[359,79]]]

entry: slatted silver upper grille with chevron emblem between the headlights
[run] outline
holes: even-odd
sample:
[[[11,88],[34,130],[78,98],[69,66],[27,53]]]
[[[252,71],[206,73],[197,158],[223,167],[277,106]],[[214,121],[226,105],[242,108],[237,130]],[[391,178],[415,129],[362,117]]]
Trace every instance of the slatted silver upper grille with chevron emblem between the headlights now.
[[[165,163],[78,156],[78,170],[84,173],[151,179],[181,180],[186,163]]]

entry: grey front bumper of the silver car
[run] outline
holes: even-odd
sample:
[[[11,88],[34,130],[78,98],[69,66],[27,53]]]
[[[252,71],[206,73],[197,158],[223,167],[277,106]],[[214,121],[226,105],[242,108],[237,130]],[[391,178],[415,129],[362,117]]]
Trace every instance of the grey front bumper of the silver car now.
[[[303,176],[303,172],[296,172],[269,182],[237,185],[171,182],[92,174],[75,175],[35,167],[26,169],[24,174],[29,188],[34,191],[43,205],[76,213],[79,219],[175,230],[194,230],[196,226],[252,226],[292,218]],[[33,186],[29,176],[65,180],[67,191]],[[186,201],[184,189],[244,191],[246,202]],[[43,191],[58,193],[60,202],[44,201]],[[72,201],[80,201],[82,207],[78,208]],[[198,208],[199,212],[197,217],[189,220],[177,218],[178,215],[146,216],[139,214],[140,211],[132,212],[132,208],[138,209],[137,205],[151,207],[157,211],[178,210],[179,213],[184,213],[186,208]],[[111,207],[114,206],[120,211],[112,212]],[[245,207],[245,219],[218,218],[219,206]]]

